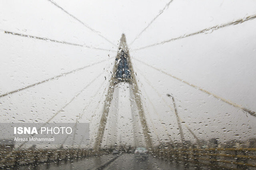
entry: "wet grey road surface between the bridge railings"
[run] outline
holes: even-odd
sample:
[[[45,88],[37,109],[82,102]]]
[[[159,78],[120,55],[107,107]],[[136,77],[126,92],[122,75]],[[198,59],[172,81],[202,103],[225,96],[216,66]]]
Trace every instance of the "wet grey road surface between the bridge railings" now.
[[[19,169],[25,170],[28,168],[34,169],[54,169],[54,170],[77,170],[77,169],[162,169],[162,170],[179,170],[183,169],[182,166],[175,166],[165,160],[155,158],[154,156],[148,155],[148,158],[136,158],[134,154],[123,153],[120,155],[107,154],[96,157],[74,159],[72,161],[60,161],[59,164],[56,162],[50,162],[49,164],[42,163],[36,167],[32,165],[20,166]]]

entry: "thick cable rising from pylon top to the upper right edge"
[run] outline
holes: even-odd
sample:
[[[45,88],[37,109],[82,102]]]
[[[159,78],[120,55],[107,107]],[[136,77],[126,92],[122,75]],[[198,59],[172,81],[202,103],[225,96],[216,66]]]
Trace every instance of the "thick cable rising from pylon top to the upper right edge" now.
[[[239,24],[239,23],[243,23],[243,22],[245,22],[245,21],[253,20],[253,19],[255,19],[255,18],[256,18],[256,14],[251,15],[251,16],[247,16],[247,17],[245,17],[245,18],[240,18],[240,19],[238,19],[238,20],[236,20],[236,21],[231,21],[231,22],[224,23],[224,24],[221,24],[221,25],[216,25],[216,26],[214,26],[214,27],[202,29],[202,30],[196,31],[196,32],[194,32],[194,33],[184,34],[184,35],[182,35],[182,36],[180,36],[180,37],[168,39],[168,40],[162,41],[162,42],[160,42],[160,43],[154,43],[154,44],[151,44],[151,45],[147,45],[147,46],[144,46],[144,47],[140,47],[140,48],[138,48],[138,49],[134,49],[133,51],[145,49],[145,48],[148,48],[148,47],[153,47],[153,46],[156,46],[156,45],[162,45],[162,44],[164,44],[164,43],[168,43],[168,42],[171,42],[171,41],[183,39],[183,38],[190,37],[190,36],[197,35],[197,34],[201,34],[201,33],[212,33],[213,31],[215,31],[215,30],[217,30],[217,29],[220,29],[220,28],[223,28],[223,27],[228,27],[228,26],[230,26],[230,25],[236,25],[236,24]]]

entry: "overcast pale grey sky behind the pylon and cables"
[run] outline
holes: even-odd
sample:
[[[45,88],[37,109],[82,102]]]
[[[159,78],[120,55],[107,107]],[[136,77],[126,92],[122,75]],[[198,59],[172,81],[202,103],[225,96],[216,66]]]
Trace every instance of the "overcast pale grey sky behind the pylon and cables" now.
[[[115,57],[117,47],[99,35],[118,45],[121,34],[125,33],[130,44],[164,9],[169,0],[54,2],[98,32],[86,28],[48,0],[2,0],[0,94]],[[162,140],[168,139],[167,134],[173,140],[180,140],[176,117],[162,100],[164,98],[173,107],[167,93],[174,95],[180,117],[200,139],[218,137],[225,141],[256,137],[256,117],[134,60],[142,60],[217,96],[256,111],[256,19],[135,50],[255,14],[254,0],[174,0],[132,43],[130,55],[154,141],[157,141],[157,135]],[[4,30],[114,51],[9,35]],[[52,120],[74,122],[84,112],[82,121],[92,120],[90,135],[94,136],[113,63],[114,59],[110,59],[0,98],[1,122],[44,122],[102,73]],[[119,86],[118,135],[121,134],[122,141],[132,140],[127,86]],[[96,96],[92,98],[94,94]],[[157,129],[154,129],[150,118]],[[111,126],[111,123],[107,124],[107,128]],[[186,140],[194,141],[184,123],[182,127]]]

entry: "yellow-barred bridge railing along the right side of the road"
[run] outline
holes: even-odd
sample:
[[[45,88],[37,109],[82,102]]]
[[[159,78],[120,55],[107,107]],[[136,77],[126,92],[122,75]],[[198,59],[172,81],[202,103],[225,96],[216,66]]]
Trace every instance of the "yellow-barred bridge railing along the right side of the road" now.
[[[256,168],[256,148],[166,148],[154,149],[153,154],[185,167]]]

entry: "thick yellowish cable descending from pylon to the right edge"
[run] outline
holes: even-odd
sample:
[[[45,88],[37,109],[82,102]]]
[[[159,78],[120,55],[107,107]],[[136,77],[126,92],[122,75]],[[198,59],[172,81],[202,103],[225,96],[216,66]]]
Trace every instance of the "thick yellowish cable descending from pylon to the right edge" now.
[[[216,94],[213,94],[212,92],[209,92],[209,91],[207,91],[207,90],[204,90],[203,88],[200,88],[200,87],[198,87],[198,86],[196,86],[196,85],[194,85],[194,84],[191,84],[191,83],[189,83],[189,82],[187,82],[187,81],[185,81],[185,80],[182,80],[182,79],[180,79],[180,78],[178,78],[178,77],[176,77],[176,76],[174,76],[174,75],[172,75],[172,74],[170,74],[170,73],[167,73],[167,72],[165,72],[165,71],[163,71],[163,70],[161,70],[161,69],[159,69],[159,68],[156,68],[156,67],[154,67],[154,66],[152,66],[152,65],[150,65],[150,64],[144,63],[143,61],[140,61],[140,60],[135,59],[135,58],[134,58],[134,60],[136,60],[136,61],[138,61],[138,62],[140,62],[140,63],[142,63],[142,64],[145,64],[146,66],[148,66],[148,67],[150,67],[150,68],[153,68],[154,70],[158,70],[159,72],[162,72],[163,74],[166,74],[166,75],[168,75],[168,76],[170,76],[170,77],[172,77],[172,78],[174,78],[174,79],[176,79],[176,80],[179,80],[180,82],[183,82],[183,83],[185,83],[185,84],[187,84],[187,85],[189,85],[189,86],[192,86],[193,88],[196,88],[197,90],[200,90],[201,92],[204,92],[204,93],[206,93],[206,94],[208,94],[208,95],[211,95],[211,96],[213,96],[214,98],[216,98],[216,99],[218,99],[218,100],[220,100],[220,101],[222,101],[222,102],[225,102],[226,104],[229,104],[229,105],[234,106],[234,107],[236,107],[236,108],[238,108],[238,109],[241,109],[242,111],[245,111],[245,112],[249,113],[250,115],[256,117],[256,113],[255,113],[254,111],[250,111],[250,110],[248,110],[248,109],[246,109],[246,108],[244,108],[244,107],[242,107],[242,106],[240,106],[240,105],[238,105],[238,104],[235,104],[234,102],[228,101],[228,100],[226,100],[226,99],[224,99],[224,98],[222,98],[222,97],[220,97],[220,96],[217,96]]]

